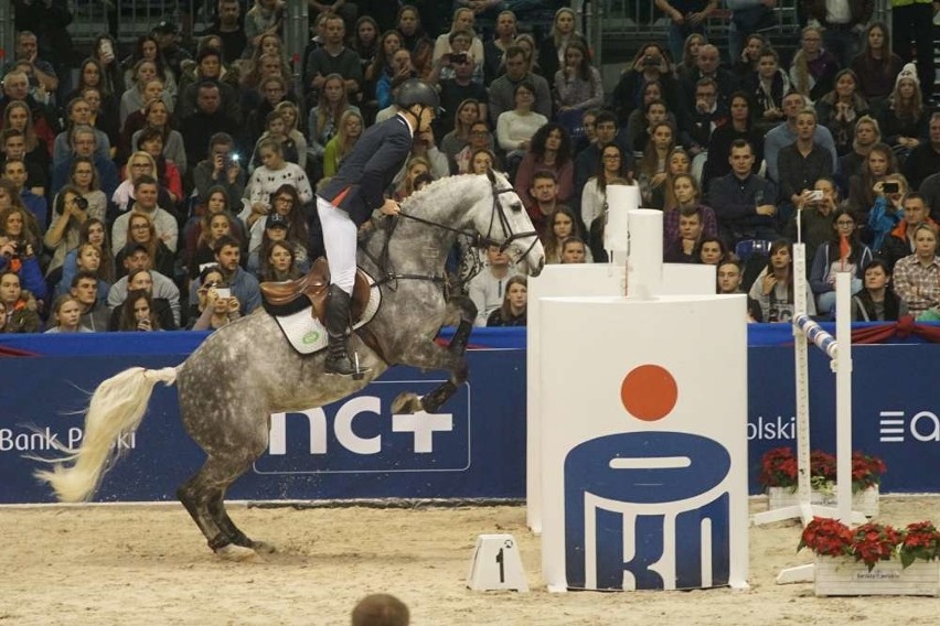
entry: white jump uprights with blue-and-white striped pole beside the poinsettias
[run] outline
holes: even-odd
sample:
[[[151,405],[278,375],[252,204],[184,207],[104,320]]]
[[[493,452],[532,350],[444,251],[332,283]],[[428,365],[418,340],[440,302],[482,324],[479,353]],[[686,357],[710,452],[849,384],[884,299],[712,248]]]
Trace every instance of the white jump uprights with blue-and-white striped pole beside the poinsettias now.
[[[797,490],[799,504],[756,514],[751,524],[771,524],[798,518],[807,526],[814,516],[837,517],[843,524],[863,524],[865,516],[852,510],[852,273],[835,276],[835,337],[807,314],[807,247],[793,245],[793,347],[797,391]],[[810,370],[809,342],[830,358],[835,373],[836,493],[835,508],[811,501],[810,477]],[[778,584],[811,582],[813,566],[788,568],[777,576]]]

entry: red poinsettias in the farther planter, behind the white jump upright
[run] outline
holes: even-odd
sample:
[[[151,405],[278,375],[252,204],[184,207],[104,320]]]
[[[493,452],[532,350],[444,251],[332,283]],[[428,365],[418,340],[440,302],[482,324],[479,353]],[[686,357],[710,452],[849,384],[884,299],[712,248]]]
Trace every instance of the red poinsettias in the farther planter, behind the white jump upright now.
[[[885,462],[863,452],[852,454],[852,492],[878,485],[887,471]],[[792,447],[775,447],[760,460],[760,483],[766,487],[797,488],[797,454]],[[836,479],[835,456],[821,450],[810,452],[810,481],[814,489],[827,490]]]

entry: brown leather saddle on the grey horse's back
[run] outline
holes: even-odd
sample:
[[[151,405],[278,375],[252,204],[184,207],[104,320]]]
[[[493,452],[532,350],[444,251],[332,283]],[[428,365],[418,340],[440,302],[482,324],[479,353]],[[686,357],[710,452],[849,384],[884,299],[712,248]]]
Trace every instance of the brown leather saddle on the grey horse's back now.
[[[271,315],[292,315],[312,306],[311,315],[325,325],[323,316],[327,313],[330,268],[323,257],[313,261],[307,276],[282,282],[263,282],[259,287],[261,303]],[[368,277],[356,269],[351,306],[353,324],[362,319],[371,291]]]

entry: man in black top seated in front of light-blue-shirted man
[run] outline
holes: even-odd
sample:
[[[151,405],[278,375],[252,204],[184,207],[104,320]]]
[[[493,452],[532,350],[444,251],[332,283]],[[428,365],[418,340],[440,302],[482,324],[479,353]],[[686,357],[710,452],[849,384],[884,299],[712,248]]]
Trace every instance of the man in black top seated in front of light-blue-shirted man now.
[[[814,141],[816,111],[807,107],[797,114],[797,140],[780,149],[778,220],[787,224],[790,215],[812,194],[815,181],[833,174],[832,155]]]

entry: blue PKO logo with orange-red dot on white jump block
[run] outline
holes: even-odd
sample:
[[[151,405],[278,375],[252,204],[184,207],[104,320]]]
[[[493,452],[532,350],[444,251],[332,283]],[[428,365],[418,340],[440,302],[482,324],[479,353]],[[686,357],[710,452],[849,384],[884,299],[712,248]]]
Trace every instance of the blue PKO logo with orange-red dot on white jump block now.
[[[643,365],[621,385],[632,418],[672,412],[677,386]],[[696,589],[730,578],[731,456],[718,441],[643,431],[595,438],[565,457],[565,573],[569,587]]]

